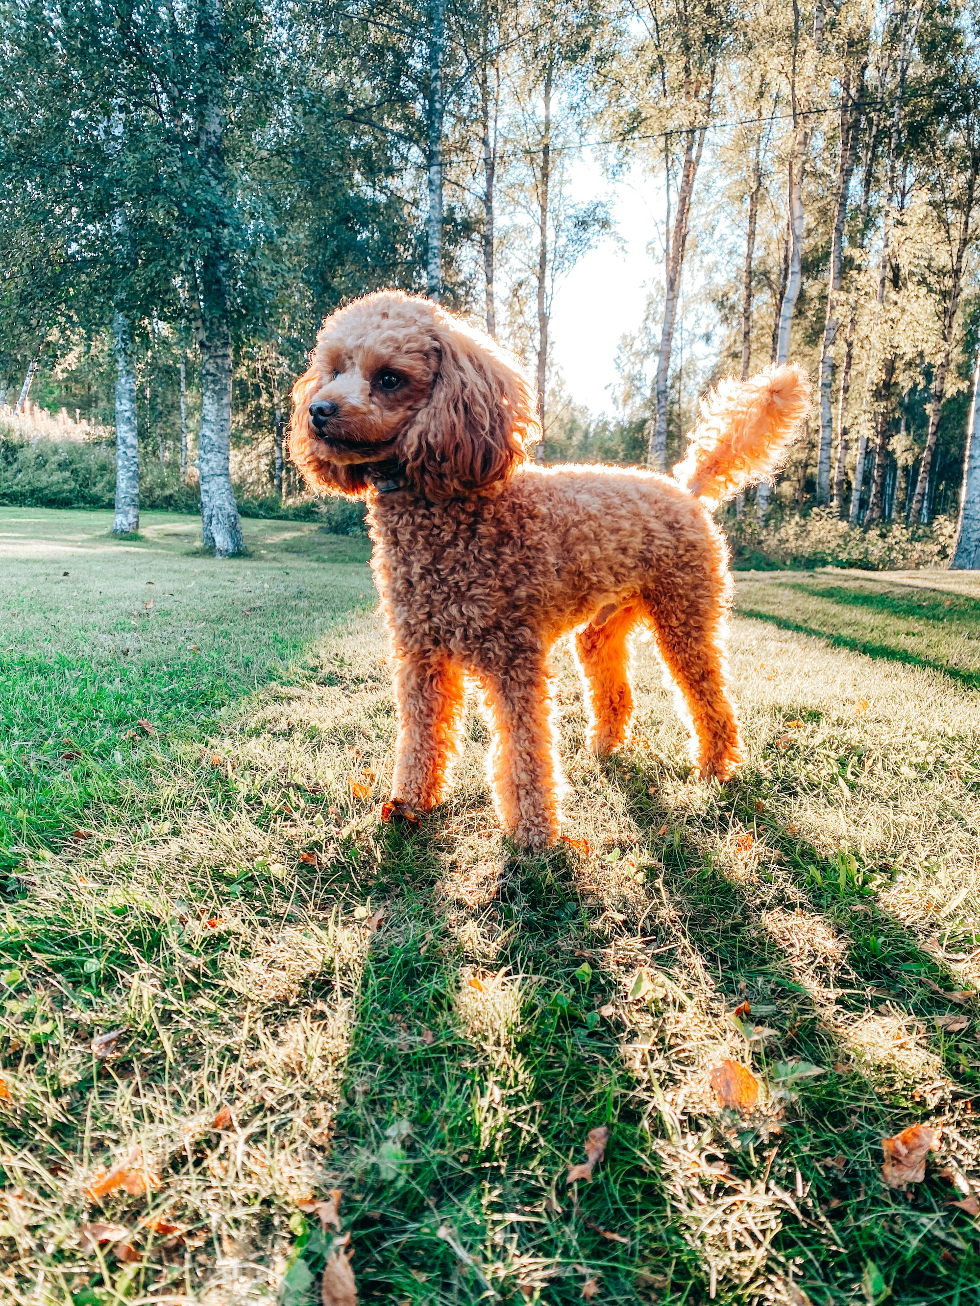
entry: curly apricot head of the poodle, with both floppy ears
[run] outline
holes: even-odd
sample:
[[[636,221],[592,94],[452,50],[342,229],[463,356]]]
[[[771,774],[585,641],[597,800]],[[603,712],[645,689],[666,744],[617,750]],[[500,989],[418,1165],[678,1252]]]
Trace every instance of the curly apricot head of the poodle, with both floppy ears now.
[[[499,481],[538,438],[516,359],[429,299],[378,291],[332,313],[293,387],[289,452],[321,491],[397,465],[430,500]]]

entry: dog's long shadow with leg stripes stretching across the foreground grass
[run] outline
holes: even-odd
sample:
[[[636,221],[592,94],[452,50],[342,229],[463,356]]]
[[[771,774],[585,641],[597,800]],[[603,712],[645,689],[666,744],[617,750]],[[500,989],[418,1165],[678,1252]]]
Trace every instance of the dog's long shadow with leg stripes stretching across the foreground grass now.
[[[649,801],[642,767],[606,773],[640,842],[677,818]],[[751,784],[719,803],[749,825]],[[473,804],[468,815],[493,823]],[[956,980],[847,863],[772,827],[785,874],[738,882],[676,827],[659,865],[640,867],[638,935],[596,892],[597,850],[487,863],[453,900],[434,820],[384,833],[371,892],[391,916],[367,957],[323,1181],[345,1192],[365,1301],[571,1303],[595,1280],[617,1302],[742,1302],[766,1284],[780,1299],[793,1277],[831,1303],[869,1273],[873,1286],[869,1264],[909,1306],[977,1290],[976,1229],[946,1205],[960,1194],[936,1166],[908,1194],[879,1170],[881,1139],[937,1111],[943,1160],[975,1164],[953,1127],[977,1092],[967,1043],[932,1030],[917,1042],[913,1029],[908,1064],[894,1067],[882,1046],[949,1012],[925,980]],[[652,993],[630,1000],[644,970]],[[794,1085],[796,1106],[740,1118],[703,1081],[727,1038],[745,1054],[725,1012],[746,999],[770,1027],[750,1045],[760,1077],[797,1058],[825,1074]],[[568,1188],[567,1165],[602,1124],[604,1162]],[[733,1212],[747,1220],[725,1228]]]

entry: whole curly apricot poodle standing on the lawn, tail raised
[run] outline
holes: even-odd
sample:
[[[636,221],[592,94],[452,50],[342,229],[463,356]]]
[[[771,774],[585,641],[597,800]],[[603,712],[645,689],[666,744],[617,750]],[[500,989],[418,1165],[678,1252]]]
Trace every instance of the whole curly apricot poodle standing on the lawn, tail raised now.
[[[491,725],[490,782],[519,848],[558,837],[561,769],[549,652],[574,632],[589,747],[632,712],[629,640],[645,623],[704,778],[742,757],[727,683],[732,582],[711,517],[768,475],[809,409],[794,366],[724,381],[702,402],[676,479],[536,466],[534,393],[519,362],[439,304],[379,291],[329,316],[293,390],[290,454],[318,491],[365,495],[397,703],[392,806],[446,795],[464,680]]]

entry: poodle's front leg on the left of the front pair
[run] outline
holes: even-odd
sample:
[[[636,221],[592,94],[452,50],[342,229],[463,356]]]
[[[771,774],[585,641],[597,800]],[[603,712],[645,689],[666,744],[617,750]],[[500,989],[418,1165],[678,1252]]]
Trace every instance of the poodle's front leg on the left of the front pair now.
[[[465,701],[463,671],[448,658],[401,654],[395,667],[399,741],[392,799],[408,811],[442,802],[459,756]]]

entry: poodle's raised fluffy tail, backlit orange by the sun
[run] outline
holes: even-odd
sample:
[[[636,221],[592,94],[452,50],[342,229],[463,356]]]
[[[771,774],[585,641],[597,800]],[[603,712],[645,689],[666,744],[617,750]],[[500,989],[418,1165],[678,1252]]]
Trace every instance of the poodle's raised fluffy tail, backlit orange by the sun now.
[[[700,421],[674,477],[717,507],[772,475],[809,411],[810,380],[796,363],[767,367],[747,381],[729,376],[700,401]]]

